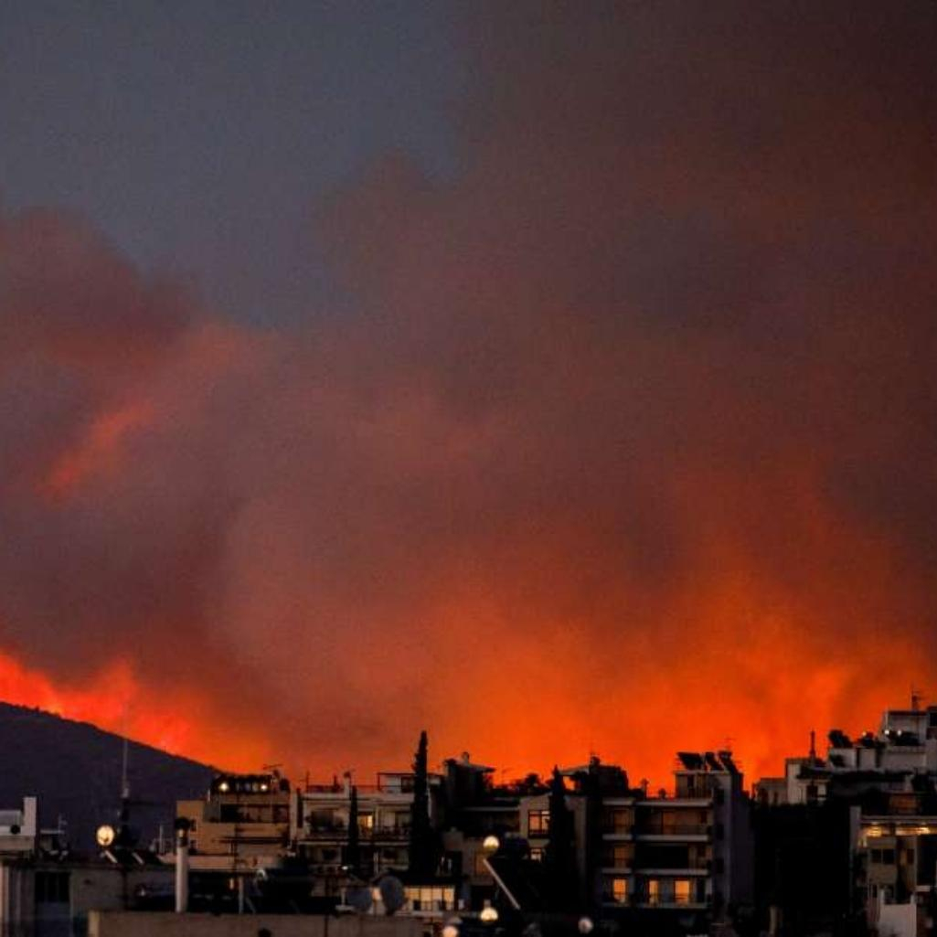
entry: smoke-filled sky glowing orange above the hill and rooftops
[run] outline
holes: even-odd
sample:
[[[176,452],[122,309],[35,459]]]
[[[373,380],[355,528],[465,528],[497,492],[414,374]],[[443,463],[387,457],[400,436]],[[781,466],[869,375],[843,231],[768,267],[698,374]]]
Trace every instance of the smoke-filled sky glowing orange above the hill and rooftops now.
[[[0,7],[0,697],[508,776],[937,703],[937,6]]]

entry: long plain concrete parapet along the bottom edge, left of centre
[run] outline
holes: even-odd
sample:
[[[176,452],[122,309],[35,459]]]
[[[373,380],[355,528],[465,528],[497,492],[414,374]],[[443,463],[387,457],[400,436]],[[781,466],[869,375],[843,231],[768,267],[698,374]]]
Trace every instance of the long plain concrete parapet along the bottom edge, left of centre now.
[[[348,915],[174,915],[169,912],[93,911],[88,937],[423,937],[415,917]]]

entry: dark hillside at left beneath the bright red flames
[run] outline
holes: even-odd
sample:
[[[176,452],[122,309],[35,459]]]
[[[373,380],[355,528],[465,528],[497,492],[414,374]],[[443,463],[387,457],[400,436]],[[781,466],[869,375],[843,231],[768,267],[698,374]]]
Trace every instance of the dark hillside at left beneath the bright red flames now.
[[[90,851],[97,826],[113,824],[120,808],[123,750],[121,736],[88,722],[0,703],[0,810],[35,795],[40,824],[62,817],[72,849]],[[146,845],[160,824],[171,835],[175,801],[203,796],[214,769],[132,741],[127,756],[131,803],[143,802],[130,822]]]

